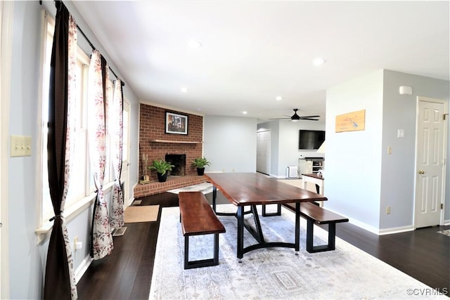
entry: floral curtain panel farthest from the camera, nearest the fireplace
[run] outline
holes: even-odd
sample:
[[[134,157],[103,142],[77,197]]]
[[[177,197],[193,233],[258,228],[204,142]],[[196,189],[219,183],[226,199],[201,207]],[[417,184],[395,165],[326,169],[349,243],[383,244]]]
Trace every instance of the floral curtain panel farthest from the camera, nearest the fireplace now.
[[[114,86],[114,99],[110,105],[111,156],[114,170],[113,202],[111,203],[111,227],[124,226],[124,195],[120,185],[123,148],[123,96],[122,81],[117,78]]]

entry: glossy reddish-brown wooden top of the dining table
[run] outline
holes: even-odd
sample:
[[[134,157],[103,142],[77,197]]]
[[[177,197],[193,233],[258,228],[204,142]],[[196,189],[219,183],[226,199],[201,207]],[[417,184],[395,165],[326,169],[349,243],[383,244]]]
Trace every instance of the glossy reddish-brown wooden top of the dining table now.
[[[327,200],[323,195],[259,173],[208,173],[205,177],[237,206]]]

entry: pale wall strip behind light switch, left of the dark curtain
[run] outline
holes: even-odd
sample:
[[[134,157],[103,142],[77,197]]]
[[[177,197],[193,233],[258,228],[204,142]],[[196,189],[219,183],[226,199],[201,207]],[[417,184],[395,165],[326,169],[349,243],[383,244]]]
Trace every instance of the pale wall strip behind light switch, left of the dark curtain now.
[[[13,9],[9,135],[32,136],[32,155],[8,162],[9,290],[12,299],[33,299],[41,296],[44,259],[34,235],[41,13],[39,1],[15,1]]]

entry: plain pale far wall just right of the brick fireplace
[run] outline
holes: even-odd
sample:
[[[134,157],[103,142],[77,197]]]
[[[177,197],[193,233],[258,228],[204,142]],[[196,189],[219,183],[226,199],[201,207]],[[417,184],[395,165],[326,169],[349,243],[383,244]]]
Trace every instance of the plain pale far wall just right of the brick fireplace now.
[[[257,120],[207,115],[203,119],[203,155],[211,162],[206,171],[256,171]]]

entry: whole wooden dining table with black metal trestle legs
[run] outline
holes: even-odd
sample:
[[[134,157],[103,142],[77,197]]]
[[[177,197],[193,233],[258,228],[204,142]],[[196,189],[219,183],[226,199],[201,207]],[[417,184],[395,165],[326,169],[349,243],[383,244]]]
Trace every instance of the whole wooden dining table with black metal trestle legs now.
[[[238,219],[237,257],[239,262],[243,255],[255,249],[266,247],[294,248],[295,254],[300,250],[300,203],[326,201],[327,198],[309,190],[288,185],[276,178],[269,178],[259,173],[208,173],[204,175],[213,185],[212,208],[217,215],[236,216]],[[232,204],[236,205],[236,214],[217,211],[217,189]],[[259,223],[257,205],[277,204],[281,213],[281,204],[295,203],[295,242],[266,242]],[[245,210],[250,207],[250,210]],[[245,214],[252,214],[255,228],[244,221]],[[257,240],[256,244],[244,247],[244,228]]]

